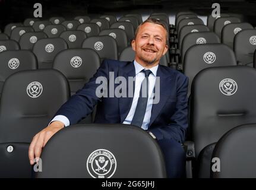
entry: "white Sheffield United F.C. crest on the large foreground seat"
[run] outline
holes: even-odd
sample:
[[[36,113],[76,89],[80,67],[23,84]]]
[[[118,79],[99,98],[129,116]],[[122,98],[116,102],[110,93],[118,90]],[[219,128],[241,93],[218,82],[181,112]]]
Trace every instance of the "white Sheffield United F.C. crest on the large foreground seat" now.
[[[116,159],[109,150],[98,149],[90,154],[86,166],[93,178],[111,178],[116,172]]]

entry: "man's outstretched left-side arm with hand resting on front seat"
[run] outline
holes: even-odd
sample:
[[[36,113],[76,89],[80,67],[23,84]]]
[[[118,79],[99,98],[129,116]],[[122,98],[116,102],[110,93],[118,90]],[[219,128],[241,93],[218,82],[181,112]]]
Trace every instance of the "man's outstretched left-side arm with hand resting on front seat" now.
[[[77,124],[81,118],[89,115],[93,111],[93,107],[100,100],[96,96],[96,88],[100,84],[96,84],[97,77],[106,77],[109,79],[108,62],[103,61],[96,74],[90,81],[84,85],[81,90],[78,90],[55,114],[64,115],[68,118],[70,125]],[[45,147],[49,139],[60,129],[64,128],[65,124],[61,121],[53,121],[45,129],[36,134],[29,147],[30,164],[34,164],[34,158],[39,158],[42,148]]]

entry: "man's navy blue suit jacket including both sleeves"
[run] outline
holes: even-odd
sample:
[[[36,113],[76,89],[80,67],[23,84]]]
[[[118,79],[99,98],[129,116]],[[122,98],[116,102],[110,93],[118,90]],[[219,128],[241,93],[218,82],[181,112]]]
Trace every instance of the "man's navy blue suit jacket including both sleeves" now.
[[[99,86],[96,84],[96,78],[103,76],[109,80],[109,72],[114,72],[115,77],[125,77],[128,81],[128,77],[135,77],[134,63],[103,61],[90,81],[71,96],[56,115],[65,115],[70,125],[77,124],[89,115],[97,104],[96,123],[122,123],[131,108],[132,97],[96,96],[96,88]],[[153,132],[157,140],[172,138],[182,143],[188,127],[188,78],[181,72],[162,65],[157,69],[157,77],[160,77],[160,101],[152,107],[148,131]]]

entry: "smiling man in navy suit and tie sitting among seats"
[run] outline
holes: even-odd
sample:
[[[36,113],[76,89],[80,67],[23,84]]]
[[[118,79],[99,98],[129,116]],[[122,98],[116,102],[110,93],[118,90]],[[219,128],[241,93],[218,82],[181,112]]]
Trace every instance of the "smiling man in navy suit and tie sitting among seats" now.
[[[123,123],[137,125],[150,131],[162,148],[165,157],[167,176],[180,178],[185,171],[185,152],[181,143],[185,140],[187,122],[188,78],[174,69],[159,65],[167,47],[167,30],[155,19],[148,19],[135,31],[132,49],[133,62],[103,61],[89,83],[77,91],[68,102],[58,110],[50,125],[34,136],[29,147],[30,164],[34,157],[40,157],[42,148],[65,126],[77,124],[89,115],[97,104],[96,123]],[[98,97],[96,80],[106,77],[110,72],[116,77],[135,77],[133,97]],[[156,78],[160,78],[159,103],[153,104]],[[142,86],[148,84],[145,101],[141,97]],[[129,89],[128,89],[129,90]],[[156,92],[157,93],[157,92]]]

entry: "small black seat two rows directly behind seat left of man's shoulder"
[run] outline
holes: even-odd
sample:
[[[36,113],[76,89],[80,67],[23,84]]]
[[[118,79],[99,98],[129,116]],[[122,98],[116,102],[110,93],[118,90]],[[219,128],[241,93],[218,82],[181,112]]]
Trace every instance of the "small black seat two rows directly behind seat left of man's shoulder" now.
[[[87,36],[86,32],[81,30],[68,30],[62,32],[59,37],[67,42],[68,48],[80,48]]]

